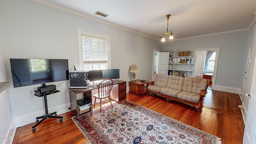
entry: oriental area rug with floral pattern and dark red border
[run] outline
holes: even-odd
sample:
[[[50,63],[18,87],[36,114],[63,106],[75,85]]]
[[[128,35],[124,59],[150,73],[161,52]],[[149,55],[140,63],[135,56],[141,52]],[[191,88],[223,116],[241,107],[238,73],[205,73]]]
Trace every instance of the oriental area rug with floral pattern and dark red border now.
[[[221,144],[220,138],[129,101],[72,117],[91,144]]]

